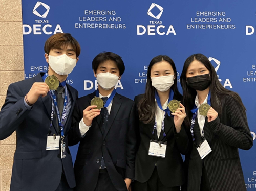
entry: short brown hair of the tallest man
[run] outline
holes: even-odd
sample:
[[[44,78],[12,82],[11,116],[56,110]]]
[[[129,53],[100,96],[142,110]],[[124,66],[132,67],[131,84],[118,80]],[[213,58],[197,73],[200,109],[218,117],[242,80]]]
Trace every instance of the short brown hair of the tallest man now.
[[[48,38],[45,42],[45,53],[49,55],[52,49],[58,49],[61,46],[72,46],[76,53],[76,57],[80,55],[80,45],[77,40],[71,36],[69,33],[57,33]]]

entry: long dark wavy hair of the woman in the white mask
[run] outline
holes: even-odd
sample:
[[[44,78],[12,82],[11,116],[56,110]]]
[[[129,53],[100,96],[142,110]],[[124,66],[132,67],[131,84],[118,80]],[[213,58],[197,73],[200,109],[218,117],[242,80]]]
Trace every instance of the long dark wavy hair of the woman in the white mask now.
[[[156,102],[155,102],[156,89],[155,87],[152,86],[150,74],[151,74],[152,66],[162,61],[166,61],[172,66],[174,70],[175,79],[174,79],[174,85],[171,87],[171,89],[174,91],[174,95],[177,99],[182,99],[182,96],[177,87],[177,71],[176,71],[174,61],[166,55],[156,56],[151,60],[150,65],[148,66],[146,91],[143,95],[143,98],[140,100],[138,104],[139,118],[140,118],[140,121],[142,121],[144,124],[152,123],[155,120],[156,111],[157,111]]]

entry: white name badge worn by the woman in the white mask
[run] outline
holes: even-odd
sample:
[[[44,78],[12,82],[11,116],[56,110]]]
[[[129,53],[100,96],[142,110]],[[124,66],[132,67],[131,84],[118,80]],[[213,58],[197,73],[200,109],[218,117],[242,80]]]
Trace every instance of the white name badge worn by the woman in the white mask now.
[[[165,158],[167,142],[150,141],[150,150],[148,155]]]

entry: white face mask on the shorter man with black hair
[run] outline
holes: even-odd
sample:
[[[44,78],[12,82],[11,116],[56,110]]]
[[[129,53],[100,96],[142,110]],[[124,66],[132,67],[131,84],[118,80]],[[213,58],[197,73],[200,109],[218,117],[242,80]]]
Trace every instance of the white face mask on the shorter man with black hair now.
[[[96,75],[98,84],[105,90],[109,90],[117,84],[118,76],[111,73],[99,73]]]

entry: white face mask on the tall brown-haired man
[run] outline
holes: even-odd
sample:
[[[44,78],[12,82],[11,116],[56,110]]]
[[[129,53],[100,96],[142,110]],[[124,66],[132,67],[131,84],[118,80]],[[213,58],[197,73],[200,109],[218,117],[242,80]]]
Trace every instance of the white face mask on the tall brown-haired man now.
[[[49,55],[49,65],[58,75],[68,75],[76,66],[76,59],[68,57],[66,54],[60,56]]]

